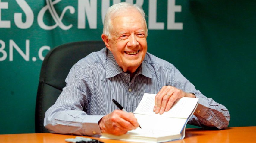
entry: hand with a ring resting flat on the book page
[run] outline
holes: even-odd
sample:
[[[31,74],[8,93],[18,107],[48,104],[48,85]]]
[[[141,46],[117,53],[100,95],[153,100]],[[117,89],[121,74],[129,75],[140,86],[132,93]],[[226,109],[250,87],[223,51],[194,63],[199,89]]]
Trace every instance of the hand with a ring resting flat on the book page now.
[[[155,96],[155,106],[153,111],[156,114],[163,114],[171,109],[177,99],[182,97],[194,98],[195,96],[192,93],[186,93],[173,86],[163,86]]]

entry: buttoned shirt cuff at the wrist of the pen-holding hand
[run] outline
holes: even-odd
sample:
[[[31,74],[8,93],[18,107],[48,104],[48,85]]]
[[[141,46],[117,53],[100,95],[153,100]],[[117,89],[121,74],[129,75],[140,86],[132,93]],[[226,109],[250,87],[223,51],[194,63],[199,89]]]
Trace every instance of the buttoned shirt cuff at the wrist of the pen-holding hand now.
[[[89,136],[100,134],[101,129],[99,127],[98,122],[102,117],[104,117],[104,115],[89,115],[89,116],[90,118],[84,118],[83,120],[82,126],[85,132],[84,134]]]

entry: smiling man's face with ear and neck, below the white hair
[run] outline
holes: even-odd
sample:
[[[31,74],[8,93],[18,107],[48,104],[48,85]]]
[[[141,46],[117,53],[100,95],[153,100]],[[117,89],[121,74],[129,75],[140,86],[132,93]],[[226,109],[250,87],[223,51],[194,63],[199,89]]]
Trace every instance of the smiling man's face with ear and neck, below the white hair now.
[[[117,64],[132,79],[147,52],[146,23],[137,9],[115,12],[111,16],[111,35],[102,34],[101,37]]]

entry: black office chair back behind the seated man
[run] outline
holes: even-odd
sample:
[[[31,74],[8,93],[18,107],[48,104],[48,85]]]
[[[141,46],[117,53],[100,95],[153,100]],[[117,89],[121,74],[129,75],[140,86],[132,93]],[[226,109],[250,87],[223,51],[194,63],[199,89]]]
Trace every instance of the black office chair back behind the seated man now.
[[[105,47],[103,41],[82,41],[60,45],[45,56],[39,77],[36,97],[36,133],[47,133],[44,127],[45,112],[51,107],[66,86],[65,79],[71,67],[83,57]]]

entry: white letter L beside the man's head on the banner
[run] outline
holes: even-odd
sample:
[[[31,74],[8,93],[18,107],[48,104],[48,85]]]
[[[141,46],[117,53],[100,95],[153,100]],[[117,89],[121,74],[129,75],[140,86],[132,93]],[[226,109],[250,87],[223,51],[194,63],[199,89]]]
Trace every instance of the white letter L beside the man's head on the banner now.
[[[148,29],[164,29],[164,22],[156,22],[157,0],[150,0],[148,6]]]

